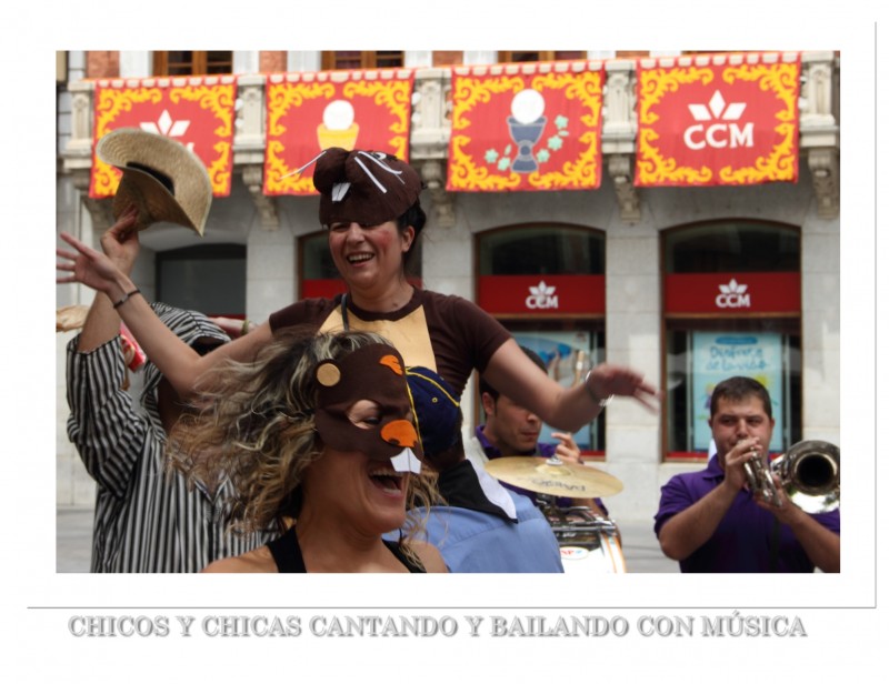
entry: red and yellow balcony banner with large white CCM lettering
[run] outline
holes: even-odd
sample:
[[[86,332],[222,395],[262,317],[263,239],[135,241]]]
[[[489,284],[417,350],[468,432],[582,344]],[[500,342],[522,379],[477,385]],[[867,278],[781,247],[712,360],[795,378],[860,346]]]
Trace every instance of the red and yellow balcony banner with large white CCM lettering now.
[[[640,59],[636,185],[796,182],[799,53]]]

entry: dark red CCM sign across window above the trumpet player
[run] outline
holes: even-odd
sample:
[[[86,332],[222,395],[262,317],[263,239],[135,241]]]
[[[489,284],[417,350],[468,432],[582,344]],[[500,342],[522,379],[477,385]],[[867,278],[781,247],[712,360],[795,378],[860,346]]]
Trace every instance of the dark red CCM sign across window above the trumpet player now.
[[[668,314],[795,315],[802,309],[797,272],[675,273],[667,275],[663,299]]]

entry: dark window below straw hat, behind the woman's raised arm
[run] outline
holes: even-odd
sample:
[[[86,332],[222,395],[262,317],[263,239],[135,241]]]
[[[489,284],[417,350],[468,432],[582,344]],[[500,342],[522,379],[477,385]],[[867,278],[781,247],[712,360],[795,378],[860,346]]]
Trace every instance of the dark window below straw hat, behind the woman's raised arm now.
[[[208,244],[160,252],[158,300],[207,315],[247,313],[247,248]]]

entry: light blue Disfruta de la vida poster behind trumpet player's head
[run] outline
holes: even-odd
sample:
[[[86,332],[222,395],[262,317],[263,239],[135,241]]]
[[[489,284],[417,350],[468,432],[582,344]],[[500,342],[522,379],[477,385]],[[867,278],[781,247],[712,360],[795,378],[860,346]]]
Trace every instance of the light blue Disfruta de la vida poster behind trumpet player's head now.
[[[695,451],[710,444],[710,394],[713,388],[732,375],[759,381],[771,396],[775,431],[769,451],[782,450],[782,408],[785,405],[781,335],[779,333],[692,333],[692,405]]]

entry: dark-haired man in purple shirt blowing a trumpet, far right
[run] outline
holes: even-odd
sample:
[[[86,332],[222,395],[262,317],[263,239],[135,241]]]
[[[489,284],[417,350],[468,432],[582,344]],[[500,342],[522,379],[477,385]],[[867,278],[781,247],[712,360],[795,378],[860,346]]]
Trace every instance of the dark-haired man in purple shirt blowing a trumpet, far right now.
[[[681,572],[839,572],[839,510],[806,513],[768,470],[775,419],[766,388],[750,378],[723,380],[711,395],[709,424],[716,457],[661,489],[655,532],[665,555]],[[751,491],[755,460],[775,481],[773,496]]]

